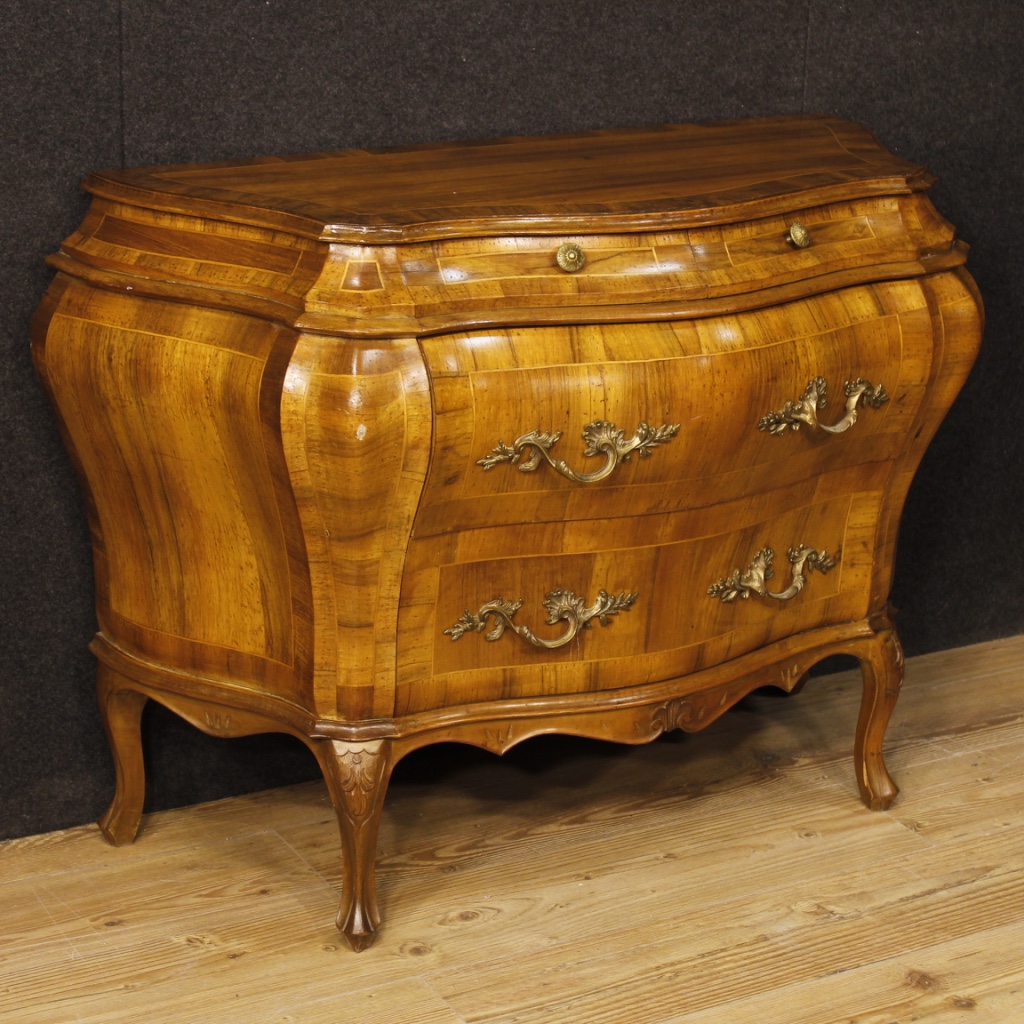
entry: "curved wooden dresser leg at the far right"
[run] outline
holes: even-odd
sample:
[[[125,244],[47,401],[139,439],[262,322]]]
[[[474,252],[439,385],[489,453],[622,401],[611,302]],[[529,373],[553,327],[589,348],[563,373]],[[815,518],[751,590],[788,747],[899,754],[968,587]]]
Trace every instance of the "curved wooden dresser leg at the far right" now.
[[[853,759],[860,796],[872,811],[885,811],[899,793],[886,769],[882,744],[903,683],[903,648],[892,629],[878,634],[860,658],[864,694],[857,721]]]

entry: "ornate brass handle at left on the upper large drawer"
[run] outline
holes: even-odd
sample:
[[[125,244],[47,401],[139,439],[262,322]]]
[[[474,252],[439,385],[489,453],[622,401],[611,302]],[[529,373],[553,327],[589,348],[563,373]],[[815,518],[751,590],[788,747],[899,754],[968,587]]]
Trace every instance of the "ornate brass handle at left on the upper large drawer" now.
[[[646,459],[650,456],[651,449],[658,444],[667,444],[678,433],[678,423],[667,423],[660,427],[641,423],[636,433],[627,440],[626,431],[620,430],[613,423],[605,420],[588,423],[583,428],[583,439],[587,442],[584,456],[592,458],[602,452],[605,455],[604,465],[593,473],[578,473],[568,463],[551,458],[549,450],[562,436],[560,430],[553,434],[531,430],[528,434],[517,437],[511,445],[500,440],[489,455],[476,461],[476,465],[488,470],[494,469],[499,463],[515,463],[519,461],[523,452],[529,449],[528,457],[519,466],[520,473],[532,473],[543,459],[556,473],[561,473],[569,480],[574,480],[577,483],[596,483],[598,480],[603,480],[620,463],[628,462],[634,452],[638,453],[641,459]]]

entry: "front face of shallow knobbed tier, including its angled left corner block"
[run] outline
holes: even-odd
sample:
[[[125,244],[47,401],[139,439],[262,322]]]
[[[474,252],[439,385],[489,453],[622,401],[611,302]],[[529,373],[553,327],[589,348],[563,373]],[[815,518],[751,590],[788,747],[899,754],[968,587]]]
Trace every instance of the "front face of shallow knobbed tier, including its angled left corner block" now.
[[[963,261],[921,194],[678,231],[332,246],[300,326],[424,333],[731,311]],[[643,304],[644,308],[640,308]]]

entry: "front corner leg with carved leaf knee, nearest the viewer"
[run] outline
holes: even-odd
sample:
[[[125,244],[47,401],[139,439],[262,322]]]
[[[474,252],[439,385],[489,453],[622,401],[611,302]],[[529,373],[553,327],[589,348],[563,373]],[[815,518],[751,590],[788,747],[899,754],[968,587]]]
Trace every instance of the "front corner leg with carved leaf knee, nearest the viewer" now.
[[[381,809],[393,764],[391,741],[324,740],[312,745],[341,829],[344,876],[338,929],[359,952],[373,942],[381,920],[375,860]]]

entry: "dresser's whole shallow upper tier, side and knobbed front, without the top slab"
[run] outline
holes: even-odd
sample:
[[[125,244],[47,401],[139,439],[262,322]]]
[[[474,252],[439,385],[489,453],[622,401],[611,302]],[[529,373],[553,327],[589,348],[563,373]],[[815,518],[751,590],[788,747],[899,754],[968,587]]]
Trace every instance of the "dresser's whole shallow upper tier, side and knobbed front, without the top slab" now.
[[[50,262],[136,296],[393,337],[731,313],[965,259],[950,225],[910,193],[671,230],[398,245],[328,244],[97,200]]]

